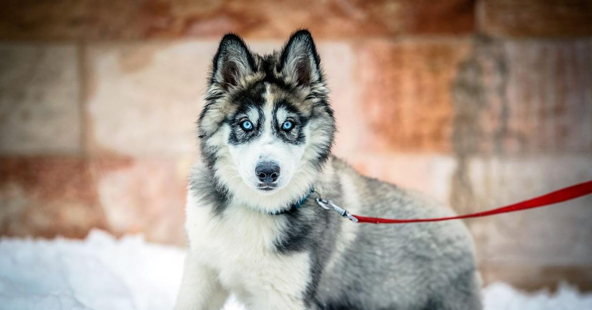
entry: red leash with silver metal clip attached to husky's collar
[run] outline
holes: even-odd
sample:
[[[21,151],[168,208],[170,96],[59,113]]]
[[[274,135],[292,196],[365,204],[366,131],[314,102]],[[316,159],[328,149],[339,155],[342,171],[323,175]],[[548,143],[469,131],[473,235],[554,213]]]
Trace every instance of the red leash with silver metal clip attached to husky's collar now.
[[[514,212],[519,210],[533,209],[535,207],[548,206],[558,202],[564,202],[566,200],[575,199],[577,197],[592,194],[592,180],[574,186],[561,188],[560,190],[552,191],[551,193],[543,196],[535,197],[533,199],[525,200],[523,202],[510,204],[508,206],[498,207],[497,209],[469,213],[458,216],[448,216],[445,218],[429,218],[429,219],[383,219],[383,218],[371,218],[368,216],[352,215],[347,210],[336,206],[334,203],[327,200],[318,200],[324,209],[330,209],[328,206],[333,207],[337,213],[342,216],[353,220],[358,223],[374,223],[374,224],[391,224],[391,223],[416,223],[416,222],[439,222],[440,220],[451,220],[451,219],[468,219],[468,218],[479,218],[481,216],[494,215],[499,213]]]

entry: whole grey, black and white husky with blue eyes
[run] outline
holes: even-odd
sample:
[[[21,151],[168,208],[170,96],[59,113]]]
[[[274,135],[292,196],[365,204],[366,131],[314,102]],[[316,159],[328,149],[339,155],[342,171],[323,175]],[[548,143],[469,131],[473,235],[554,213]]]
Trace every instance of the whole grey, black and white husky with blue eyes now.
[[[328,94],[307,30],[265,56],[223,37],[198,121],[175,309],[220,309],[229,293],[249,309],[481,309],[462,222],[354,223],[318,206],[321,195],[359,215],[452,213],[335,158]]]

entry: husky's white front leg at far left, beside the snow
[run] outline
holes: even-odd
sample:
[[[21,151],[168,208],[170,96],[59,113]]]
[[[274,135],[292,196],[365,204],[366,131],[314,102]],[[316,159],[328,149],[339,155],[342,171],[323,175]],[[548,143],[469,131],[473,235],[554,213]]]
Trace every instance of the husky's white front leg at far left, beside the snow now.
[[[220,285],[215,271],[196,260],[195,255],[189,250],[185,258],[175,310],[218,310],[224,305],[229,293]]]

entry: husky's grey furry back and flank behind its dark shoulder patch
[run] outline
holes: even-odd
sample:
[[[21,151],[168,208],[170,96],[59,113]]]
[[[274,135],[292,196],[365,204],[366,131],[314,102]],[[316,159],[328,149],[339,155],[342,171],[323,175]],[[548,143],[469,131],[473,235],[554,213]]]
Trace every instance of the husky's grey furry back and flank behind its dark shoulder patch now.
[[[419,194],[363,177],[339,159],[330,164],[341,194],[330,199],[352,213],[387,218],[452,214]],[[336,243],[329,245],[331,254],[318,279],[319,308],[481,308],[472,240],[461,221],[373,225],[335,217],[339,222],[330,233]],[[331,239],[327,232],[320,238]]]

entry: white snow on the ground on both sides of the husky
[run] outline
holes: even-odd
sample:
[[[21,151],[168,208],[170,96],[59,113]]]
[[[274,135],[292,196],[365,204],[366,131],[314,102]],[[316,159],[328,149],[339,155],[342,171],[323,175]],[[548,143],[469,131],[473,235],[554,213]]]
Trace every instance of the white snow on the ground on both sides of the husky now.
[[[140,235],[115,239],[95,230],[85,240],[0,239],[0,309],[171,309],[184,251]],[[556,293],[483,289],[486,310],[592,309],[592,294],[562,284]],[[243,310],[233,298],[224,310]]]

